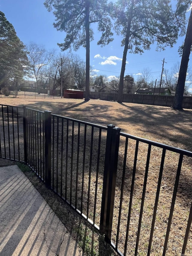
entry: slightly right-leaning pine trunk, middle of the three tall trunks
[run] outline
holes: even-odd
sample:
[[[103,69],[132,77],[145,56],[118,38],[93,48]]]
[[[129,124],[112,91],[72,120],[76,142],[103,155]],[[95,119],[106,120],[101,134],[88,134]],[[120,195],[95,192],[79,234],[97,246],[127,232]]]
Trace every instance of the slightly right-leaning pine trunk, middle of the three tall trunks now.
[[[120,74],[120,80],[119,80],[119,92],[118,92],[118,98],[117,98],[117,102],[119,102],[119,103],[122,103],[122,98],[123,98],[123,82],[124,82],[125,65],[126,65],[127,51],[128,51],[128,45],[129,45],[131,20],[132,20],[132,15],[133,15],[134,3],[135,3],[135,0],[132,0],[130,13],[129,13],[128,26],[127,26],[127,33],[126,33],[126,37],[125,37],[125,47],[124,47],[124,51],[123,51],[121,74]]]

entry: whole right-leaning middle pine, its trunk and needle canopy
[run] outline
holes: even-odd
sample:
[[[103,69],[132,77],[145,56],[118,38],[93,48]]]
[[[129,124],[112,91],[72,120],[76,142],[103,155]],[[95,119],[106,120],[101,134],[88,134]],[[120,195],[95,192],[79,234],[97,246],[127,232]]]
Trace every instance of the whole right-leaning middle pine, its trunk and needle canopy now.
[[[176,43],[179,28],[169,0],[119,0],[111,5],[111,15],[115,20],[115,30],[123,36],[124,46],[120,74],[118,102],[122,102],[126,57],[130,53],[143,53],[150,45],[157,43],[157,49]]]

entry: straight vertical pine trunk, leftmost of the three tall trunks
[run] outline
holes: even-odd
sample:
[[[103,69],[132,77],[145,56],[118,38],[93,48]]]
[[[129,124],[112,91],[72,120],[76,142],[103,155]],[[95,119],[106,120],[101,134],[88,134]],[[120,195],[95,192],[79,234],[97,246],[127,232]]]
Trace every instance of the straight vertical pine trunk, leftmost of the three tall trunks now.
[[[86,40],[86,74],[85,74],[85,101],[89,101],[89,67],[90,67],[90,40],[89,40],[89,0],[85,6],[85,40]]]

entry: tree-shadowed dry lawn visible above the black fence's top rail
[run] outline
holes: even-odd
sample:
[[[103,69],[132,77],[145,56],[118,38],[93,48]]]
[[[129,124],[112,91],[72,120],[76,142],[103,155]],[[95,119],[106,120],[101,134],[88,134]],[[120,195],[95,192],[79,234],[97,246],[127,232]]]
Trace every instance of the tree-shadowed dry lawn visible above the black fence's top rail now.
[[[105,126],[113,123],[122,128],[122,132],[136,136],[139,133],[140,137],[192,151],[191,110],[177,111],[170,107],[100,100],[75,102],[42,100],[29,102],[27,107],[51,110],[53,114]]]

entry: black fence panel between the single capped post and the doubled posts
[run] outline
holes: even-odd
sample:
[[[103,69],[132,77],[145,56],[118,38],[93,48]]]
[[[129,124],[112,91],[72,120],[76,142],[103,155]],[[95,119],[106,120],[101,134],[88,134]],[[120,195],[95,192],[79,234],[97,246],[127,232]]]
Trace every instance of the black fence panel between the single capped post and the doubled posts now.
[[[107,127],[52,116],[52,189],[99,229]]]

